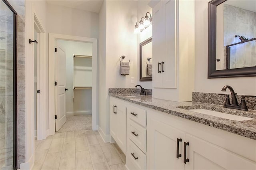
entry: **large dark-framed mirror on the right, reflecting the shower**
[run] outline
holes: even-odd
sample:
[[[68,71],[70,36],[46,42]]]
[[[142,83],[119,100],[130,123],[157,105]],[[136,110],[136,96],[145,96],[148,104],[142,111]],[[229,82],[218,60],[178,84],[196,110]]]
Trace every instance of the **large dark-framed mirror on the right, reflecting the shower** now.
[[[255,5],[250,0],[208,2],[208,79],[256,76]]]

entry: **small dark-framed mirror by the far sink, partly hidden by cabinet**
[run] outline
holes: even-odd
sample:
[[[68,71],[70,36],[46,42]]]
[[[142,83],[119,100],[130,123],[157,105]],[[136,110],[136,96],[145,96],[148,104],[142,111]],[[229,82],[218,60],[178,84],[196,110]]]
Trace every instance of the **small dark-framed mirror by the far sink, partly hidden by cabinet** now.
[[[140,81],[152,81],[152,37],[140,43]]]

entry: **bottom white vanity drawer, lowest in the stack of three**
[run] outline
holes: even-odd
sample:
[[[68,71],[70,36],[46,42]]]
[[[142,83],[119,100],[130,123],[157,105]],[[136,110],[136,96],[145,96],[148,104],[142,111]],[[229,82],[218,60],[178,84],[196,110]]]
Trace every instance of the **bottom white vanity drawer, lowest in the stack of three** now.
[[[146,170],[146,154],[131,140],[128,140],[126,150],[126,165],[130,170]]]

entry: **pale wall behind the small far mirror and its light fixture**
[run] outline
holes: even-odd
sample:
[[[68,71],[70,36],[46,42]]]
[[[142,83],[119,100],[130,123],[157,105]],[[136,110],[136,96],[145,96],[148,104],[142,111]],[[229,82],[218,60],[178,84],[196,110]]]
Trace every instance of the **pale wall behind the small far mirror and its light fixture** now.
[[[146,16],[147,12],[150,12],[150,14],[152,15],[152,8],[150,6],[148,6],[149,2],[150,2],[150,0],[138,0],[137,1],[137,21],[138,22],[140,21],[141,17]],[[150,17],[149,14],[148,14],[148,16]],[[153,16],[153,18],[154,18],[154,16]],[[134,26],[135,26],[136,22],[134,22]],[[133,29],[134,29],[134,26],[133,26]],[[146,28],[143,32],[140,32],[140,34],[138,34],[138,39],[137,39],[137,56],[138,56],[137,57],[138,80],[137,81],[138,81],[138,84],[140,84],[145,89],[152,89],[152,81],[140,81],[140,43],[147,40],[150,37],[152,37],[152,25],[149,26],[148,28]],[[151,62],[152,62],[152,60],[151,60]],[[153,78],[154,78],[154,75],[153,75]]]

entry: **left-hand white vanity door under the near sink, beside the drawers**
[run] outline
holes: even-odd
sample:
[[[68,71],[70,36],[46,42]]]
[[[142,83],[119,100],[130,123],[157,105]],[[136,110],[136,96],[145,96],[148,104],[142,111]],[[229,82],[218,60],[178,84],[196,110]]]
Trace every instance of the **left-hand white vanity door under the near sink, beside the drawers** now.
[[[176,158],[177,138],[179,142],[178,153],[181,157]],[[183,170],[182,143],[185,133],[166,125],[154,118],[148,117],[147,126],[147,169],[149,170]]]

